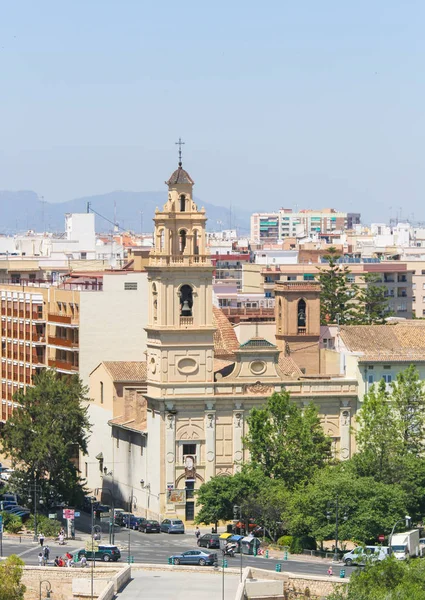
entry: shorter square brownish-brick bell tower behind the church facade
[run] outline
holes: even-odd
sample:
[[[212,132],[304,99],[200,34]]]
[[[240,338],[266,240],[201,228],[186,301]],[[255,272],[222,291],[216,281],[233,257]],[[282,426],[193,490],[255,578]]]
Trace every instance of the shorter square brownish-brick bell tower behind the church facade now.
[[[320,373],[320,284],[279,281],[275,287],[276,343],[307,375]]]

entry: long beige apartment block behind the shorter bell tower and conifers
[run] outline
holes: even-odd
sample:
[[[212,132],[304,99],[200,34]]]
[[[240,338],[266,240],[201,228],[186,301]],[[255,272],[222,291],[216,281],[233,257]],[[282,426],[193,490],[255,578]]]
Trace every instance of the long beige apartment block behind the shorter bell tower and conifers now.
[[[351,273],[347,280],[364,287],[366,273],[376,273],[381,276],[388,297],[388,305],[395,316],[412,318],[413,271],[407,268],[406,263],[398,261],[379,262],[349,262]],[[274,298],[275,286],[278,281],[314,281],[319,270],[326,268],[325,263],[319,264],[286,264],[286,265],[258,265],[248,264],[243,267],[242,289],[244,293],[264,292],[265,298]],[[424,292],[425,296],[425,292]]]

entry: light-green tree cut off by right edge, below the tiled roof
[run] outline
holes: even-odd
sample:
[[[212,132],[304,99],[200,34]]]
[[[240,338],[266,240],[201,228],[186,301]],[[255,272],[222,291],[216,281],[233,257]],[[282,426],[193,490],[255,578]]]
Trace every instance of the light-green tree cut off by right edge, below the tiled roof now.
[[[394,421],[403,440],[403,450],[422,454],[425,449],[425,392],[416,367],[410,365],[398,373],[391,388]]]

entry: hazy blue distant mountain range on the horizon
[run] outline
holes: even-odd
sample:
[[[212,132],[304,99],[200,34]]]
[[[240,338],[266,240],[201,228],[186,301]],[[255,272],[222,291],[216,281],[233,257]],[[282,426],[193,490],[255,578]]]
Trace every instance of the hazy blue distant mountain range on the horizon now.
[[[0,191],[0,232],[16,233],[17,231],[64,231],[65,213],[86,212],[87,202],[98,213],[96,215],[96,231],[106,232],[112,229],[114,210],[117,222],[123,229],[139,233],[152,231],[152,218],[155,208],[159,208],[167,200],[164,192],[124,192],[116,191],[108,194],[76,198],[68,202],[49,203],[39,200],[32,191]],[[251,212],[241,208],[229,208],[203,203],[195,198],[198,207],[205,207],[208,216],[207,229],[237,228],[241,235],[246,235],[250,227]],[[141,214],[142,213],[142,214]],[[101,215],[101,216],[99,216]],[[105,220],[105,217],[108,220]]]

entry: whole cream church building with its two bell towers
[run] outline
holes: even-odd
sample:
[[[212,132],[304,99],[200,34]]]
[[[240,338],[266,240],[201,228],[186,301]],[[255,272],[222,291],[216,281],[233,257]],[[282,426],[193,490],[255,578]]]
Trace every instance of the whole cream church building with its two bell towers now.
[[[91,373],[85,475],[89,488],[109,488],[116,505],[135,514],[191,521],[194,491],[248,458],[247,416],[273,392],[316,404],[335,455],[349,458],[357,381],[321,374],[315,282],[278,283],[274,339],[239,345],[213,306],[207,217],[194,202],[194,181],[180,162],[166,184],[146,267],[146,361],[105,362]]]

